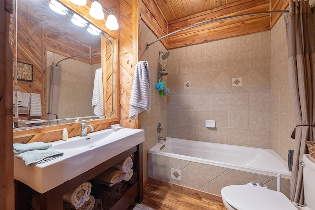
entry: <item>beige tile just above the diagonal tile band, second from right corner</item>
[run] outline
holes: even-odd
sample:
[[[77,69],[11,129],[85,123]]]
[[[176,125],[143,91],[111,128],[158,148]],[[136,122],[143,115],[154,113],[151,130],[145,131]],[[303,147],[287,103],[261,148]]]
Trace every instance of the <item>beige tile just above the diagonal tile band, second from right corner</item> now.
[[[230,70],[249,68],[249,52],[245,51],[229,54],[228,64]]]

